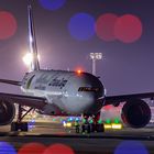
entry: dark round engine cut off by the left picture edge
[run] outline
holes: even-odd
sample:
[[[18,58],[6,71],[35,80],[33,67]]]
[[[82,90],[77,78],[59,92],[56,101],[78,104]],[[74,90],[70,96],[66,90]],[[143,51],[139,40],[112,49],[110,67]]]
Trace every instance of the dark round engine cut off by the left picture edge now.
[[[13,121],[15,117],[15,106],[9,101],[0,101],[0,125],[6,125]]]

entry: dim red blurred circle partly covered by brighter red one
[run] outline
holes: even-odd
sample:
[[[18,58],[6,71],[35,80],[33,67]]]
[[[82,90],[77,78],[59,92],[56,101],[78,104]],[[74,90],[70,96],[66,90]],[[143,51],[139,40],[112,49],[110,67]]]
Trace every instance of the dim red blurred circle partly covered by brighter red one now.
[[[96,33],[103,41],[114,41],[114,24],[118,16],[113,13],[100,15],[96,21]]]

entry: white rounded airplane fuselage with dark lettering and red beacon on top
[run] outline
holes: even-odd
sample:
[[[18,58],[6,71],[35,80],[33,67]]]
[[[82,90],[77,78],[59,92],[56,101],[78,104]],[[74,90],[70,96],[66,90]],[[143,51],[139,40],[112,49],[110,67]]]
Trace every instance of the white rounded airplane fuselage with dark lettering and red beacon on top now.
[[[99,88],[99,90],[79,91],[80,87]],[[97,113],[102,107],[97,99],[105,97],[105,88],[97,77],[88,73],[77,74],[65,70],[28,73],[22,80],[21,89],[26,95],[46,98],[48,107],[43,110],[48,112],[56,107],[61,111],[55,109],[54,114]]]

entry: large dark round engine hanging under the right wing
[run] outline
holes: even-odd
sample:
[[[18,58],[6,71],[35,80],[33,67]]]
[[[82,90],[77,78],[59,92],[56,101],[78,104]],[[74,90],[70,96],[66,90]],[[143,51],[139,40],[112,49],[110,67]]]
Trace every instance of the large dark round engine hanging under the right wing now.
[[[143,128],[151,120],[151,109],[145,101],[132,99],[123,106],[121,118],[128,127]]]

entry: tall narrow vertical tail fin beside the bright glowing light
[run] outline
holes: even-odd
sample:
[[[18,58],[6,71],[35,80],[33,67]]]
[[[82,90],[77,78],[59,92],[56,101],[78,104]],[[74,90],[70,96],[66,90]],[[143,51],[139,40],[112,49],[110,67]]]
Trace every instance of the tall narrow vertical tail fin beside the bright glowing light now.
[[[37,55],[37,45],[36,45],[36,36],[35,36],[35,28],[34,28],[34,18],[32,11],[31,0],[28,3],[28,16],[29,16],[29,43],[30,43],[30,52],[32,54],[32,63],[31,70],[40,70],[38,55]]]

